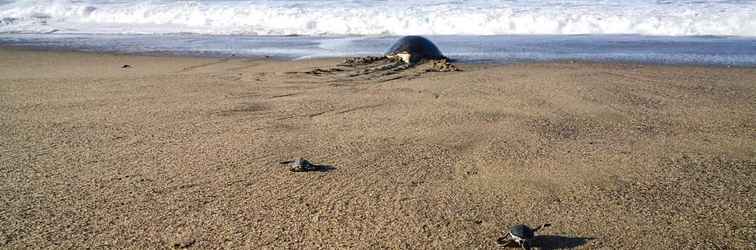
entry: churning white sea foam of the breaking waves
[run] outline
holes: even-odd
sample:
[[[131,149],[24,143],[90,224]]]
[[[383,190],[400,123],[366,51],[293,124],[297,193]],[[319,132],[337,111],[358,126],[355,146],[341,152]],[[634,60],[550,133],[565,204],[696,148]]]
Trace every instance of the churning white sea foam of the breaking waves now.
[[[0,32],[756,36],[756,1],[2,0]]]

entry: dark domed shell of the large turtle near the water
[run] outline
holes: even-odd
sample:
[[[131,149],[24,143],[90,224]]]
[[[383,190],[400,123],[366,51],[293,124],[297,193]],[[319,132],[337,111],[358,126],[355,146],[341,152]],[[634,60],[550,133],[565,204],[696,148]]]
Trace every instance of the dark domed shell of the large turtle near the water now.
[[[422,36],[399,38],[384,55],[394,56],[400,53],[409,53],[412,63],[428,59],[447,59],[433,42]]]

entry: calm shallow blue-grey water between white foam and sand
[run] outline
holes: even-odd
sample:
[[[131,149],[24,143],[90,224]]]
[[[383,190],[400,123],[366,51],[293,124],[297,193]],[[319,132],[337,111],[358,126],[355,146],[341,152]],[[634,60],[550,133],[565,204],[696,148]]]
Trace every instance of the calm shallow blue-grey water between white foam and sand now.
[[[638,35],[428,36],[465,63],[586,60],[756,66],[756,37]],[[396,36],[6,34],[0,45],[135,54],[308,59],[381,55]]]

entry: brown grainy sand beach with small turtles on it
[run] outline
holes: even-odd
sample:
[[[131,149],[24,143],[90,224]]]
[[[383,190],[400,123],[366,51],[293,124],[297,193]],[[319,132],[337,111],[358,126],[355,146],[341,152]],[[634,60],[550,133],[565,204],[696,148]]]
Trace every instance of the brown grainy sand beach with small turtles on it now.
[[[0,49],[0,248],[756,248],[756,69],[339,62]]]

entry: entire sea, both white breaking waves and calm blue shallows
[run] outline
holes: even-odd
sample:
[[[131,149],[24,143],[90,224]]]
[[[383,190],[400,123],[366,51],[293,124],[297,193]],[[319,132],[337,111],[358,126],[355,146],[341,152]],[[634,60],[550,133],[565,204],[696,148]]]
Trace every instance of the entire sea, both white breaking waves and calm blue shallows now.
[[[0,45],[302,59],[426,35],[467,62],[756,65],[752,0],[0,0]]]

